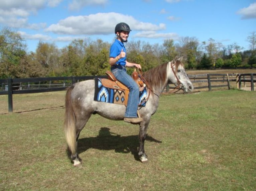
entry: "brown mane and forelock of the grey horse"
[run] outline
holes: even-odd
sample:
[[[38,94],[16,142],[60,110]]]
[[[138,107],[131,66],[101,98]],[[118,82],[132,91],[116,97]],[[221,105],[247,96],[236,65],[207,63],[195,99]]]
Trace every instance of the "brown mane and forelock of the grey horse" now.
[[[183,66],[183,63],[176,60],[174,64],[175,73],[177,72],[179,65]],[[167,66],[168,63],[164,63],[143,73],[143,77],[152,88],[159,87],[167,82]]]

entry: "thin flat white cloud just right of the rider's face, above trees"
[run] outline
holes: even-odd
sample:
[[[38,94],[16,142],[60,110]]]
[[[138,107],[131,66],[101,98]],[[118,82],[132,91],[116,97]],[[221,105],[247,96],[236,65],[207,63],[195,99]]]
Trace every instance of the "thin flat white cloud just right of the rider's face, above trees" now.
[[[176,33],[156,33],[155,31],[145,31],[133,35],[133,38],[152,38],[152,39],[173,39],[178,40],[179,36]]]

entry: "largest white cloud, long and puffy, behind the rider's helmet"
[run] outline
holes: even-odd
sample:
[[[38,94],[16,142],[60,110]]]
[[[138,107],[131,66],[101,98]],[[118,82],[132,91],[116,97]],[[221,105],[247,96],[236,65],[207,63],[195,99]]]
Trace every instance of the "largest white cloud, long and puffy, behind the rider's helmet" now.
[[[88,16],[71,16],[50,25],[45,31],[69,35],[107,35],[114,34],[117,23],[126,22],[130,28],[138,31],[164,30],[165,24],[139,22],[132,16],[119,13],[97,13]]]

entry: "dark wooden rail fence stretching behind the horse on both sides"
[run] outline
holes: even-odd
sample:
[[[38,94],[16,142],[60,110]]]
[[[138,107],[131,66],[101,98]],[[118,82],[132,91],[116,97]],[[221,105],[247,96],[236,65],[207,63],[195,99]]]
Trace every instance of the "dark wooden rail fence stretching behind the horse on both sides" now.
[[[107,78],[107,76],[97,76]],[[254,91],[256,74],[200,74],[188,75],[194,89],[213,89],[227,88],[230,89],[230,83],[236,83],[236,88],[241,89],[241,83],[250,82],[251,91]],[[70,85],[83,81],[94,79],[95,76],[72,76],[72,77],[47,77],[47,78],[18,78],[18,79],[0,79],[0,95],[8,95],[8,110],[13,112],[13,94],[30,94],[41,92],[53,92],[66,90]],[[255,79],[254,79],[255,78]],[[174,89],[173,85],[167,85],[166,92]]]

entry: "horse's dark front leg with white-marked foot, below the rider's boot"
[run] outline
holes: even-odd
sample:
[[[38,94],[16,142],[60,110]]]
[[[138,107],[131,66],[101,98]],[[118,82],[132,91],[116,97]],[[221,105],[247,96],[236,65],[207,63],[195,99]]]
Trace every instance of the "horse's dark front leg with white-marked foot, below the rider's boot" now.
[[[144,143],[145,143],[145,139],[146,139],[146,135],[147,135],[147,128],[148,128],[148,122],[142,121],[140,123],[140,131],[139,131],[139,157],[140,157],[140,161],[141,162],[147,162],[148,158],[147,155],[144,151]]]

